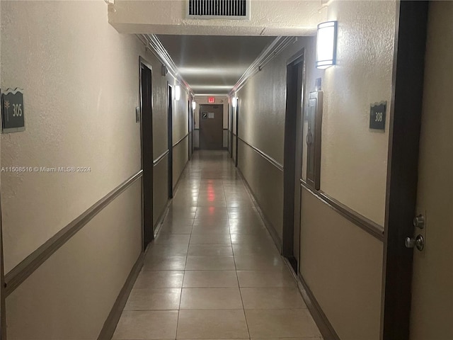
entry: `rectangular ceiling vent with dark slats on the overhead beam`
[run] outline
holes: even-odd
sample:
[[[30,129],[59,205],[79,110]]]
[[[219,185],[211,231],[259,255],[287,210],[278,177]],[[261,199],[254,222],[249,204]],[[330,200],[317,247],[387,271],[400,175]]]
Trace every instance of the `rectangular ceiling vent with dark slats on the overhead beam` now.
[[[188,0],[190,19],[250,20],[251,0]]]

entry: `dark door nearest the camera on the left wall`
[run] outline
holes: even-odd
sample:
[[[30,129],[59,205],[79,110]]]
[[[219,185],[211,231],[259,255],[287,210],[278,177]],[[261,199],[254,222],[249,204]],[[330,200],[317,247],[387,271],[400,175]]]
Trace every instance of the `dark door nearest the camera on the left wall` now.
[[[143,169],[143,249],[154,239],[153,226],[153,119],[151,67],[140,60],[140,106]]]

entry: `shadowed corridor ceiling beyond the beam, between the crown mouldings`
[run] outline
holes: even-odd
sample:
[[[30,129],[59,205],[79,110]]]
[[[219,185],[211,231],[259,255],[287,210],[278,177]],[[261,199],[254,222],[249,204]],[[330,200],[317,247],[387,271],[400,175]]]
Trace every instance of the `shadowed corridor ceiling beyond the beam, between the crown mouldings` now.
[[[226,95],[275,37],[158,35],[195,95]]]

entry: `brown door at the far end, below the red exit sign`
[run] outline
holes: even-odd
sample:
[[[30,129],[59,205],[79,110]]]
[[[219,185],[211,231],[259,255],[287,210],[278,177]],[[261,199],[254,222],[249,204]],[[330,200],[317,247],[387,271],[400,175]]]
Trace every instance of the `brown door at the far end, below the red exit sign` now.
[[[200,105],[200,149],[223,149],[223,105]]]

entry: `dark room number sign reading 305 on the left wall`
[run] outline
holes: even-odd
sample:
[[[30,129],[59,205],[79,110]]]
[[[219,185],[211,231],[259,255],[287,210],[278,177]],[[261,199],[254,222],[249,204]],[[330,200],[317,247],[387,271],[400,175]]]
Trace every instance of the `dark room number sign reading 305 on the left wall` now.
[[[1,94],[1,130],[2,132],[25,130],[23,90],[7,89]]]

